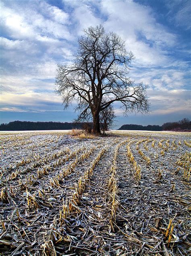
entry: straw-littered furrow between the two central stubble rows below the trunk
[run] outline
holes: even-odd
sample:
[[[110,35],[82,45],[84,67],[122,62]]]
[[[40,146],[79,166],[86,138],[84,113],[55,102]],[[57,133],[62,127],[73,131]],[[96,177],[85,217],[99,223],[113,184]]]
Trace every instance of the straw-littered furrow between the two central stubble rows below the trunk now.
[[[93,175],[89,182],[85,185],[79,204],[81,213],[79,213],[75,222],[77,227],[72,229],[72,232],[68,231],[70,236],[79,233],[80,237],[83,237],[83,241],[73,241],[70,251],[75,251],[75,246],[78,247],[78,254],[89,251],[97,251],[97,253],[103,254],[107,251],[102,234],[108,232],[109,225],[110,207],[106,202],[106,197],[108,193],[108,175],[114,148],[115,145],[110,145],[108,151],[104,153],[93,170]],[[80,245],[78,245],[79,243]],[[66,252],[69,250],[69,246],[70,244],[68,244],[68,247],[66,246]],[[83,248],[86,248],[86,250]]]

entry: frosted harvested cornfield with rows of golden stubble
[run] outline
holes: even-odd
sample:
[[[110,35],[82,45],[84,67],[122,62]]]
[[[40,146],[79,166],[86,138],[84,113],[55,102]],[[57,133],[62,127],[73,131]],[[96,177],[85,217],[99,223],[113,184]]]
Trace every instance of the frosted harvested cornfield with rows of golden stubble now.
[[[1,133],[1,255],[189,255],[189,133]]]

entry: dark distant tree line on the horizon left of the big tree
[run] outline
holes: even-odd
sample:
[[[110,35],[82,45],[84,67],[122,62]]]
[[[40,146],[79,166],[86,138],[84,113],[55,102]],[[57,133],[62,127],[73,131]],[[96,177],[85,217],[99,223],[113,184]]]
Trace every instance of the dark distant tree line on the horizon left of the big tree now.
[[[84,123],[14,121],[0,124],[1,131],[82,129]]]

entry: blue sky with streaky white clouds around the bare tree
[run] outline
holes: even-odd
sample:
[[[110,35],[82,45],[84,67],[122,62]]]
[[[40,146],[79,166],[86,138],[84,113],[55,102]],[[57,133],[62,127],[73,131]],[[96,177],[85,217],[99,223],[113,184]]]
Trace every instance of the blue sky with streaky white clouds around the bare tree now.
[[[116,126],[191,118],[191,0],[0,1],[0,123],[71,122],[54,93],[56,65],[72,63],[83,29],[102,24],[135,55],[129,76],[149,84],[149,115],[125,117],[115,105]]]

